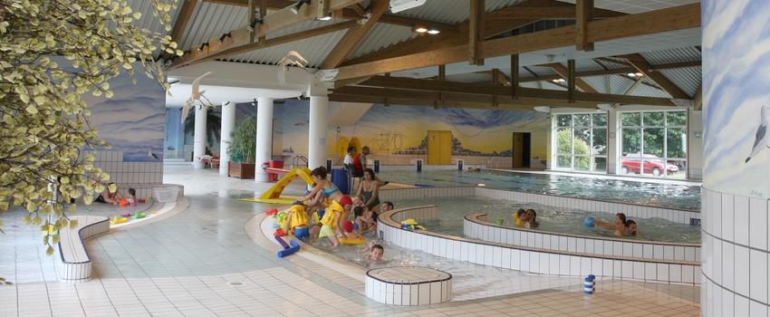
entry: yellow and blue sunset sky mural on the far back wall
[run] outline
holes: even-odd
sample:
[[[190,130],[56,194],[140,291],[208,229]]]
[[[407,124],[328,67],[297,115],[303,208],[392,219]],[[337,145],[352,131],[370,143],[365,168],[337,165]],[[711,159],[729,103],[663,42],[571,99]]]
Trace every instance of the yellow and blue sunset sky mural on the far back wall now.
[[[274,153],[307,153],[308,101],[276,104],[274,116]],[[340,127],[339,132],[330,126],[326,139],[332,159],[339,159],[334,158],[337,140],[353,137],[360,139],[361,145],[368,145],[374,154],[424,155],[428,130],[451,130],[455,156],[508,157],[512,132],[539,132],[542,141],[534,138],[537,149],[533,156],[545,159],[549,123],[547,115],[534,111],[374,105],[354,126]]]

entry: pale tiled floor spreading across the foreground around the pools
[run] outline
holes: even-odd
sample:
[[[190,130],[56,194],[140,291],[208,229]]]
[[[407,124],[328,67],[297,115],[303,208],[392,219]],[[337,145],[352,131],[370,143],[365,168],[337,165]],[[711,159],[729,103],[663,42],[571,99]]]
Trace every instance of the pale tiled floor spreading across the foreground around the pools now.
[[[698,314],[698,287],[610,281],[592,297],[568,287],[391,307],[330,280],[322,269],[279,260],[253,244],[244,224],[265,206],[234,198],[265,185],[208,170],[167,175],[165,181],[185,185],[189,209],[90,240],[94,278],[87,283],[59,282],[37,229],[22,225],[18,212],[3,215],[0,276],[16,284],[0,286],[0,316],[602,315],[621,303],[623,312]],[[479,278],[496,283],[494,276]]]

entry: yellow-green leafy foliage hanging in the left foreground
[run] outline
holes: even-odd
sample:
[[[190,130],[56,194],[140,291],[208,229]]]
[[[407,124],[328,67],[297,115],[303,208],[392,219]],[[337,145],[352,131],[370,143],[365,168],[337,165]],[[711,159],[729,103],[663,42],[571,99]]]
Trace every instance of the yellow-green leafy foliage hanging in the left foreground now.
[[[176,1],[149,0],[167,31]],[[139,68],[168,89],[154,56],[182,54],[135,26],[141,18],[126,0],[0,0],[0,211],[24,207],[49,255],[58,229],[76,226],[70,198],[90,204],[110,179],[83,151],[109,146],[82,94],[111,98],[109,81],[123,72],[135,82]]]

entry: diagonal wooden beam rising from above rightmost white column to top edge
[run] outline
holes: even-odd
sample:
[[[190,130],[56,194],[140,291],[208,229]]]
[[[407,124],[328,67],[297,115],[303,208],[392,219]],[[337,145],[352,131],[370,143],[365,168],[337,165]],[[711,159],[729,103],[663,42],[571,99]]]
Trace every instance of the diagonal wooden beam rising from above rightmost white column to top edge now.
[[[329,53],[323,60],[321,68],[336,68],[340,66],[342,61],[358,48],[358,45],[366,37],[366,34],[369,34],[369,31],[374,27],[374,24],[377,23],[382,14],[388,11],[389,4],[390,2],[387,0],[373,0],[371,2],[371,16],[369,20],[365,24],[351,27],[345,36],[342,37],[342,40],[334,46],[332,53]]]

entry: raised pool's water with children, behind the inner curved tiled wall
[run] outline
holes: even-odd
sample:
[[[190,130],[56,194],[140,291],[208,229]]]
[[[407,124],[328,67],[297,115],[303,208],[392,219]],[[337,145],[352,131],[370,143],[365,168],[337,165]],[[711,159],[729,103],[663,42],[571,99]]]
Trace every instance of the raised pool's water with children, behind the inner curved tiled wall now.
[[[610,230],[599,227],[588,228],[583,225],[587,216],[594,219],[614,223],[615,216],[611,213],[571,210],[560,207],[547,207],[540,204],[517,203],[486,197],[437,197],[405,199],[393,202],[397,208],[417,207],[426,205],[438,206],[438,220],[431,220],[420,225],[429,231],[446,235],[463,235],[463,219],[472,212],[487,214],[487,220],[496,223],[497,218],[503,218],[503,226],[514,226],[513,213],[518,208],[534,209],[537,212],[535,230],[573,234],[615,237]],[[633,240],[648,240],[672,243],[700,243],[700,226],[678,224],[662,218],[637,219],[639,235],[623,238]]]

